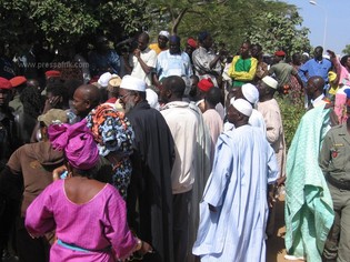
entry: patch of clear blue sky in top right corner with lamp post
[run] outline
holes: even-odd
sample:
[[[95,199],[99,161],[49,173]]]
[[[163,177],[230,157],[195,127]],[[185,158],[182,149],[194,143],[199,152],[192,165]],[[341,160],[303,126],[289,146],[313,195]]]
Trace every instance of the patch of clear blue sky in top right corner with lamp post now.
[[[302,26],[310,29],[309,39],[312,47],[322,47],[324,39],[326,50],[342,54],[341,51],[350,44],[350,0],[314,0],[317,6],[311,4],[309,0],[284,2],[298,7],[299,14],[303,18]]]

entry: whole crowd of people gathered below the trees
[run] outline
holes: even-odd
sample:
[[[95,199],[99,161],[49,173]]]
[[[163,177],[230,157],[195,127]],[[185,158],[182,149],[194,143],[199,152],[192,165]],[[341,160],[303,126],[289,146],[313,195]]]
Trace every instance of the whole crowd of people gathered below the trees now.
[[[349,261],[350,57],[133,40],[1,51],[2,260],[263,262],[286,193],[286,259]]]

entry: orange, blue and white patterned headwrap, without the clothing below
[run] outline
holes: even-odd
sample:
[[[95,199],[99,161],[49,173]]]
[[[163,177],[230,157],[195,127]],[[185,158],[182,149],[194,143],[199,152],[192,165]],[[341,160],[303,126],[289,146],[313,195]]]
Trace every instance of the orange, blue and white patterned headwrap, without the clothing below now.
[[[87,121],[101,155],[117,152],[124,157],[132,153],[134,134],[123,112],[117,111],[109,103],[103,103],[89,113]]]

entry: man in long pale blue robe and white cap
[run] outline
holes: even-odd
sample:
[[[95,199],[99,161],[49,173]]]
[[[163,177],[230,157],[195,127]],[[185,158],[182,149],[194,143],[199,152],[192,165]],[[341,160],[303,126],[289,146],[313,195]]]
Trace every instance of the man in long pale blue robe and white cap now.
[[[248,101],[231,99],[228,120],[236,129],[218,139],[200,204],[192,251],[202,262],[266,261],[264,230],[278,167],[268,141],[248,124],[251,112]]]

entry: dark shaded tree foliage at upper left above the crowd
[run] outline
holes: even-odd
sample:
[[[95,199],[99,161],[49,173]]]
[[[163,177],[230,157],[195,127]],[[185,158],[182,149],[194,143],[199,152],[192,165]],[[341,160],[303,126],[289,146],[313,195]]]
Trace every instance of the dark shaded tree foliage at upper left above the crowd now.
[[[149,23],[140,0],[0,0],[0,41],[11,52],[34,41],[57,48],[103,33],[114,42]]]

